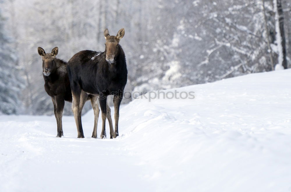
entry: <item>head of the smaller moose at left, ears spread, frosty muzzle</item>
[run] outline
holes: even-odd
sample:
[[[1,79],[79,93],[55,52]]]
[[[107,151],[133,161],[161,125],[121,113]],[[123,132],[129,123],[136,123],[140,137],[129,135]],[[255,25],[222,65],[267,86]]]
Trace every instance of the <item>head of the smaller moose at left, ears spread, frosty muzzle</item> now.
[[[44,76],[49,76],[56,70],[55,57],[58,54],[58,47],[52,49],[52,53],[45,53],[45,50],[41,47],[38,47],[37,50],[42,58],[42,74]]]

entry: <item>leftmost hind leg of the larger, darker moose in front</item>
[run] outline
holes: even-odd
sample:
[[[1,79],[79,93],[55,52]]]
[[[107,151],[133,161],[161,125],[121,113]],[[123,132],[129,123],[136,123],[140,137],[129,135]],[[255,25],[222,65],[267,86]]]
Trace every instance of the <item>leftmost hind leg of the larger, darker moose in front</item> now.
[[[77,89],[74,92],[72,91],[72,96],[73,96],[72,110],[73,110],[74,118],[75,118],[76,125],[77,125],[78,138],[84,138],[81,119],[79,119],[79,106],[80,106],[81,89]]]

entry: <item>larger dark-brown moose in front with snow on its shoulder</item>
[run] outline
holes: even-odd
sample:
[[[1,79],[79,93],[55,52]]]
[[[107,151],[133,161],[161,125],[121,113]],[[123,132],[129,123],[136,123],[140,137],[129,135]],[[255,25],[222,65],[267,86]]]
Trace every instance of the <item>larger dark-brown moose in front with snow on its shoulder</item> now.
[[[115,131],[109,119],[110,138],[118,136],[119,106],[123,98],[123,90],[127,82],[127,68],[125,54],[119,45],[124,36],[124,29],[120,29],[116,36],[104,31],[106,40],[105,51],[96,52],[84,50],[76,53],[68,62],[68,74],[73,95],[72,110],[77,125],[78,137],[83,138],[79,103],[84,102],[85,95],[99,96],[102,112],[102,131],[100,138],[106,137],[106,105],[107,96],[113,95]],[[92,137],[97,137],[97,130],[93,130]]]

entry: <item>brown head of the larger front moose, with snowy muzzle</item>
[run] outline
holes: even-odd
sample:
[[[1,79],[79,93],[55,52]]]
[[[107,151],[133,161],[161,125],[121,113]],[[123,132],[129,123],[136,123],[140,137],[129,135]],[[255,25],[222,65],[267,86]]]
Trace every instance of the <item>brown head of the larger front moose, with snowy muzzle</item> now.
[[[104,31],[105,37],[105,53],[106,53],[106,61],[110,64],[114,63],[114,57],[116,57],[119,53],[119,41],[124,36],[124,28],[120,29],[116,36],[109,35],[108,29]]]

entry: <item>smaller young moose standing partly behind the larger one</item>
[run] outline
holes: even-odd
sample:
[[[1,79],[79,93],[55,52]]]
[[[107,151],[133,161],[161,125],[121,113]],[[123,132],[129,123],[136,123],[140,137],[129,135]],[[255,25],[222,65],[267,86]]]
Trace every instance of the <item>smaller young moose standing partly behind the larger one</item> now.
[[[54,114],[56,117],[58,133],[56,137],[63,136],[62,117],[65,106],[65,101],[72,102],[72,91],[67,72],[67,62],[56,58],[58,54],[58,47],[52,49],[52,53],[45,53],[45,50],[38,47],[38,54],[42,58],[42,74],[45,80],[45,91],[52,97],[54,104]],[[84,103],[80,103],[80,108],[83,108],[86,100],[91,100],[94,110],[95,122],[94,129],[97,129],[99,106],[97,98],[94,95],[86,95]],[[111,120],[110,108],[108,108],[108,119]],[[79,114],[81,116],[81,114]],[[111,120],[112,121],[112,120]]]

